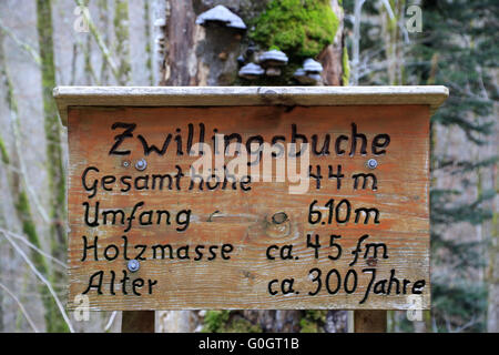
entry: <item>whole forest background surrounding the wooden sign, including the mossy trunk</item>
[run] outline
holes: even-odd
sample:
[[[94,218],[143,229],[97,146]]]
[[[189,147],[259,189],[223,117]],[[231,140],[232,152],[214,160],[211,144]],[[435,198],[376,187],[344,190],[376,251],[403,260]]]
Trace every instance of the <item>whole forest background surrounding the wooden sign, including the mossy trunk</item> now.
[[[217,4],[247,29],[196,24]],[[414,7],[416,6],[416,7]],[[65,304],[67,133],[55,85],[442,84],[431,121],[432,310],[389,332],[499,332],[493,0],[0,0],[0,332],[119,332]],[[420,14],[420,18],[418,16]],[[421,22],[418,22],[421,20]],[[278,77],[240,78],[268,49]],[[157,312],[156,332],[346,332],[346,311]]]

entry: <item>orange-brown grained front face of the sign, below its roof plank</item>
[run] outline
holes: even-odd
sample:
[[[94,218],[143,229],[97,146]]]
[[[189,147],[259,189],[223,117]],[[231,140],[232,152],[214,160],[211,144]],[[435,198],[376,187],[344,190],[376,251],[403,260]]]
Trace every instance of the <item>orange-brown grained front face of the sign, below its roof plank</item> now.
[[[420,308],[429,308],[429,115],[430,106],[425,104],[70,108],[69,308],[79,305],[74,297],[82,293],[89,297],[91,310],[108,311],[407,310],[415,302]],[[113,129],[116,122],[121,125]],[[110,154],[115,136],[123,134],[130,124],[135,124],[130,133],[133,136],[124,138],[114,150],[122,154]],[[243,142],[259,135],[271,143],[274,136],[282,135],[287,143],[295,126],[298,138],[304,135],[310,142],[316,135],[320,149],[329,134],[329,154],[313,153],[309,158],[314,175],[317,165],[320,166],[320,187],[317,189],[316,179],[310,179],[309,189],[303,194],[291,194],[289,182],[259,181],[248,183],[248,191],[240,184],[235,190],[230,184],[225,190],[205,186],[201,191],[197,184],[189,190],[191,180],[183,176],[180,190],[175,189],[175,181],[172,190],[166,182],[161,190],[157,180],[153,189],[154,174],[174,176],[179,168],[186,173],[197,159],[186,153],[190,124],[194,143],[200,124],[204,125],[206,141],[216,129],[220,134],[238,133]],[[354,124],[357,133],[366,136],[366,154],[360,152],[361,139],[357,140],[353,156],[349,154]],[[139,136],[149,146],[154,144],[161,150],[170,133],[164,154],[155,151],[144,154]],[[374,154],[371,144],[379,134],[388,134],[390,141],[384,148],[386,153]],[[182,155],[177,152],[177,135],[182,139]],[[345,154],[338,155],[335,142],[340,135],[348,140],[340,141]],[[123,154],[128,151],[129,154]],[[143,171],[135,169],[141,159],[146,161]],[[369,159],[376,159],[376,169],[366,168]],[[329,165],[337,173],[338,164],[344,174],[340,189],[337,179],[328,179]],[[377,189],[373,190],[369,181],[366,189],[361,189],[361,181],[355,189],[353,175],[358,173],[375,174]],[[136,185],[123,192],[128,189],[121,183],[123,176]],[[136,180],[139,176],[149,178]],[[92,190],[93,183],[96,191]],[[337,222],[334,216],[328,220],[326,205],[332,199],[334,207],[348,201],[352,211],[347,222]],[[317,202],[312,210],[322,214],[315,224],[309,221],[313,201]],[[98,202],[100,224],[92,226],[89,222],[94,220]],[[138,206],[140,202],[143,204]],[[111,224],[110,214],[103,224],[103,212],[122,210],[128,217],[134,206],[130,230],[126,221]],[[346,217],[345,206],[346,203],[338,210],[339,219]],[[365,215],[360,212],[356,223],[355,211],[363,207],[378,209],[379,223],[374,223],[373,216],[364,223]],[[186,225],[186,214],[181,211],[189,210]],[[152,212],[143,214],[146,211]],[[164,214],[157,224],[157,211],[169,211],[171,223],[165,223]],[[147,225],[151,216],[153,224]],[[277,223],[276,216],[285,216],[284,222]],[[120,215],[116,221],[121,221]],[[318,250],[307,243],[307,235],[310,243],[318,235]],[[365,235],[368,237],[360,241]],[[95,237],[96,250],[91,247]],[[360,252],[350,266],[359,241]],[[328,256],[338,254],[336,243],[342,255],[332,260]],[[373,247],[366,252],[369,243]],[[380,243],[386,246],[386,255],[380,246],[374,257],[374,245]],[[169,250],[164,258],[160,257],[157,247],[154,254],[153,245],[165,244],[172,247],[172,257]],[[200,245],[203,247],[197,251],[203,252],[203,257],[195,260]],[[126,258],[134,258],[139,251],[143,251],[140,270],[132,273]],[[213,255],[216,257],[210,260]]]

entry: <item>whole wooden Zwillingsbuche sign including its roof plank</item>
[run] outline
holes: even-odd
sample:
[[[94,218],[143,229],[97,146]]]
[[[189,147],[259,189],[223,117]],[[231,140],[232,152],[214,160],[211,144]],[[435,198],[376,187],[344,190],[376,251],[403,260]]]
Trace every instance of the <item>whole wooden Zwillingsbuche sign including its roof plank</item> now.
[[[70,152],[70,308],[78,295],[106,311],[429,308],[429,118],[446,88],[54,97]],[[248,169],[259,176],[192,175],[210,154],[192,154],[195,144],[214,153],[215,136],[222,151],[282,143],[302,180],[278,181],[277,168],[264,180],[256,150]]]

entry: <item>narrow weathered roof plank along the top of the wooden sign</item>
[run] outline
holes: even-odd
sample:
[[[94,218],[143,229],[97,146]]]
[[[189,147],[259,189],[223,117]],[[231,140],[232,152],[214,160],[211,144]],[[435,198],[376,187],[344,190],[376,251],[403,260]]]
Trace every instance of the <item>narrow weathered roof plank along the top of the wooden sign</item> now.
[[[426,104],[449,95],[446,87],[58,87],[63,125],[69,106],[231,106]]]

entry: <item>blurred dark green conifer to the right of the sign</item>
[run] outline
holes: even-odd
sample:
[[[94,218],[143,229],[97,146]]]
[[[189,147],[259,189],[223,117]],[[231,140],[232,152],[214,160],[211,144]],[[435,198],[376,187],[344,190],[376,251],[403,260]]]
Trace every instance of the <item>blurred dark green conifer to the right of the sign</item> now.
[[[440,153],[436,146],[441,131],[450,126],[461,130],[467,145],[476,145],[478,150],[493,140],[499,7],[496,1],[425,1],[422,10],[425,37],[413,50],[421,64],[413,68],[414,75],[421,83],[445,84],[451,92],[431,121],[431,256],[436,265],[432,322],[438,329],[485,332],[488,280],[482,275],[488,265],[487,252],[492,263],[499,256],[497,247],[489,248],[492,235],[470,240],[446,237],[445,232],[458,223],[479,226],[492,217],[489,201],[495,197],[497,185],[485,182],[482,173],[497,163],[498,155],[497,152],[485,159],[469,155],[462,152],[469,149],[466,145]],[[439,171],[458,178],[460,186],[435,183]],[[462,194],[472,184],[475,195],[464,201]],[[440,273],[440,267],[446,273]]]

